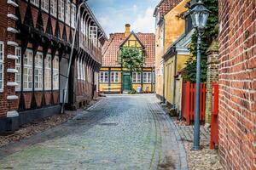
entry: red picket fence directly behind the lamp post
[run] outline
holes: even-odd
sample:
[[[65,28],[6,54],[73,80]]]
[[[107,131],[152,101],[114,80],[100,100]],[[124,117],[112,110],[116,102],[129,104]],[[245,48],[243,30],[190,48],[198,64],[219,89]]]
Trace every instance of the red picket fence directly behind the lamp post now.
[[[184,82],[182,94],[182,109],[181,114],[186,119],[187,125],[195,120],[195,83]],[[206,117],[206,94],[207,86],[201,83],[201,98],[200,98],[200,121],[205,121]]]

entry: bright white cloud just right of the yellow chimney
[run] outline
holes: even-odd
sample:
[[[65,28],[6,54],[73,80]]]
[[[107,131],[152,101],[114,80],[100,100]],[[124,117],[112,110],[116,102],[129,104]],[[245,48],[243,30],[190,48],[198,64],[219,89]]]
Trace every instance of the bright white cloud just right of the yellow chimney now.
[[[148,7],[144,14],[139,14],[132,24],[134,31],[154,32],[154,8]]]

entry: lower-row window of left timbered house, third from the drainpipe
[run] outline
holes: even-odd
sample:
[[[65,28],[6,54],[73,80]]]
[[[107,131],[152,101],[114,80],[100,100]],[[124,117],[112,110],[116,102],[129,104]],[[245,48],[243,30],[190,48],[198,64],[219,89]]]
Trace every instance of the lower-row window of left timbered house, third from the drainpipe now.
[[[43,54],[37,53],[35,56],[35,89],[43,89]]]

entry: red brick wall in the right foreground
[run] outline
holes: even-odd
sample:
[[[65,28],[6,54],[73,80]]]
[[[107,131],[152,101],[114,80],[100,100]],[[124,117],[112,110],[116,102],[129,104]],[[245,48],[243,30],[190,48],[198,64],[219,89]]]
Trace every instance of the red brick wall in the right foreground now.
[[[225,169],[256,169],[255,0],[219,0],[219,154]]]

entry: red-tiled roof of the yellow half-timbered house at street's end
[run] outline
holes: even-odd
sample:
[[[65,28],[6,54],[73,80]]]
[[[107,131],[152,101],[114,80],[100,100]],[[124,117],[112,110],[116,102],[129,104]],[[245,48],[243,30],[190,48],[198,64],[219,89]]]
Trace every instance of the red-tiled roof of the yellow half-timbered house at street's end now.
[[[145,47],[144,67],[154,67],[154,33],[135,33]],[[110,34],[110,38],[103,46],[103,67],[119,67],[119,47],[125,41],[125,33]]]

